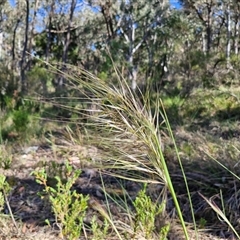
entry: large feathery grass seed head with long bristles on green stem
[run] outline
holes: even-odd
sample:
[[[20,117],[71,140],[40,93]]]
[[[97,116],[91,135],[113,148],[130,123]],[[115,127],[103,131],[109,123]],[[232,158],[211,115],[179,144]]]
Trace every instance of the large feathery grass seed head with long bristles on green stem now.
[[[163,154],[160,116],[164,122],[165,115],[161,113],[160,101],[157,100],[153,111],[149,95],[135,94],[117,70],[117,80],[107,84],[74,66],[65,66],[64,72],[53,66],[51,69],[66,79],[68,89],[81,96],[74,98],[75,107],[60,107],[77,114],[81,125],[81,116],[87,118],[83,124],[84,141],[101,149],[101,167],[124,179],[161,184],[161,201],[167,202],[167,192],[170,192],[185,239],[189,239]],[[88,107],[83,109],[80,105]],[[170,128],[169,124],[166,126]]]

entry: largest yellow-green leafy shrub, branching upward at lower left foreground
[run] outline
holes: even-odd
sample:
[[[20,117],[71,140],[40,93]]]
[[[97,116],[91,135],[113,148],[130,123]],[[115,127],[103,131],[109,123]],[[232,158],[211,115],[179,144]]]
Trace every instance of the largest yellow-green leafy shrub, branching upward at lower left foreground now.
[[[55,177],[56,185],[51,187],[47,183],[48,176],[44,169],[35,171],[33,174],[39,184],[44,185],[44,194],[52,205],[55,214],[56,224],[59,227],[63,237],[70,240],[78,239],[82,226],[85,212],[88,206],[88,196],[78,194],[72,190],[72,186],[80,175],[80,170],[73,170],[68,163],[65,164],[67,179]]]

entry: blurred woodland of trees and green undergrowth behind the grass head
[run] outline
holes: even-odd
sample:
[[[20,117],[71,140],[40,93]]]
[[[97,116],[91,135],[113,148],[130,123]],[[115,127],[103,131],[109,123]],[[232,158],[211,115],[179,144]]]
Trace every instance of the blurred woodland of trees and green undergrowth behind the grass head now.
[[[47,63],[111,85],[121,76],[136,94],[161,96],[173,127],[236,120],[239,9],[238,1],[1,0],[1,138],[41,131],[40,116],[68,121],[81,117],[75,107],[92,107],[88,92]]]

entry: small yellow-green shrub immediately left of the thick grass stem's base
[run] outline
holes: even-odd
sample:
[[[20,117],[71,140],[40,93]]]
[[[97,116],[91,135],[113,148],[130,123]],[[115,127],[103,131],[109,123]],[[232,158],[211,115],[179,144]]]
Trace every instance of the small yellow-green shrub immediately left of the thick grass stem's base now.
[[[159,215],[163,212],[166,203],[163,202],[160,206],[153,203],[151,198],[146,195],[146,186],[145,184],[133,202],[136,210],[135,233],[140,229],[146,239],[152,239],[155,230],[155,218],[160,217]],[[167,229],[169,229],[167,226],[161,229],[161,239],[166,239]]]

